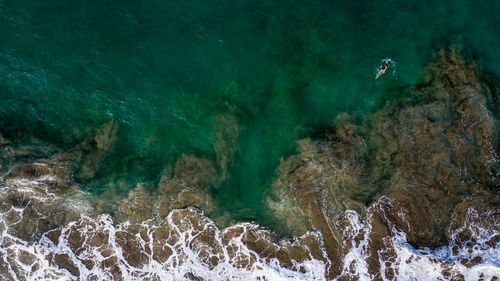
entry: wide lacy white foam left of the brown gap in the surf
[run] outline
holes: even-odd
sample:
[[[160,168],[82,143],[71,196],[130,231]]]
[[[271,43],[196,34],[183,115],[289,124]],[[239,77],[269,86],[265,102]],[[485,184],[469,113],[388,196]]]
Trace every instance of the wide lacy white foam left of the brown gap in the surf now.
[[[33,194],[30,186],[39,187],[41,184],[19,181],[15,188],[19,188],[17,192],[26,193],[27,198],[37,196],[39,202],[56,200],[52,193]],[[8,188],[4,187],[4,191]],[[269,236],[268,232],[250,223],[240,223],[221,231],[195,209],[174,210],[164,221],[146,221],[140,225],[127,222],[115,225],[111,216],[106,214],[96,218],[82,215],[80,219],[60,227],[57,239],[54,240],[49,232],[33,242],[25,241],[10,231],[22,222],[23,212],[22,207],[10,207],[0,214],[0,260],[6,266],[2,276],[5,280],[325,279],[324,261],[308,258],[285,268],[275,257],[259,256],[243,241],[249,232]],[[134,232],[133,229],[139,230]],[[125,233],[133,234],[124,243],[120,239]],[[154,244],[158,235],[165,236],[161,241],[170,251],[165,260],[155,253],[157,247]],[[321,240],[318,233],[311,232],[302,238],[306,236]],[[277,249],[301,247],[300,240],[297,238],[270,245]],[[133,264],[128,258],[131,249],[126,248],[126,244],[134,244],[132,250],[142,254],[140,265]],[[323,255],[326,257],[324,250]],[[211,262],[213,258],[216,262]],[[66,261],[61,262],[61,259]]]

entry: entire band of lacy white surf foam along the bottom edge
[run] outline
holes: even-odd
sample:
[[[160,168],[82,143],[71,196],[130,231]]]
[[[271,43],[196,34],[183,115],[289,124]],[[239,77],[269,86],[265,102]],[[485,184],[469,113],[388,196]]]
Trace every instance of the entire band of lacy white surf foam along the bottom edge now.
[[[5,195],[13,188],[28,202],[68,201],[45,187],[37,181],[17,181],[1,192]],[[61,206],[76,206],[75,200]],[[87,204],[84,200],[80,203]],[[256,224],[239,223],[221,230],[192,208],[174,210],[163,220],[135,225],[115,224],[107,214],[81,215],[41,238],[27,241],[14,230],[23,229],[20,225],[27,219],[36,220],[25,217],[29,207],[10,206],[0,213],[0,280],[326,280],[331,265],[318,232],[273,242],[271,233]],[[468,210],[464,225],[450,234],[450,244],[437,249],[415,249],[408,244],[405,233],[393,228],[391,236],[383,238],[385,248],[376,252],[378,272],[370,272],[371,214],[375,208],[377,204],[367,211],[366,218],[346,211],[337,222],[337,228],[343,230],[345,254],[341,274],[335,280],[500,277],[500,233],[495,229],[498,216],[473,209]],[[50,214],[42,210],[39,216],[43,219]],[[460,240],[464,232],[469,234],[469,241]],[[319,258],[308,248],[310,241],[317,241]],[[259,243],[257,252],[255,245]],[[273,255],[292,248],[305,253],[302,260],[291,259],[285,266]],[[467,263],[472,260],[476,262]]]

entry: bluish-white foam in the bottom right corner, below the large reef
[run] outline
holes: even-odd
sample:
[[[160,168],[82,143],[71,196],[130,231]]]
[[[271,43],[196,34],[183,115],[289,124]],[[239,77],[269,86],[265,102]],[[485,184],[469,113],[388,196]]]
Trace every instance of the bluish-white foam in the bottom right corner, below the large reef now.
[[[382,198],[381,200],[388,200]],[[388,203],[388,202],[386,202]],[[390,202],[389,202],[390,203]],[[377,204],[372,206],[376,208]],[[372,217],[361,222],[354,211],[347,211],[344,244],[352,245],[343,261],[340,277],[348,280],[373,280],[368,273],[369,227]],[[490,218],[492,221],[487,221]],[[389,220],[387,220],[388,222]],[[378,250],[380,277],[383,280],[496,280],[500,278],[500,232],[498,216],[491,211],[478,214],[468,209],[465,223],[451,234],[450,244],[437,249],[415,249],[407,242],[406,234],[392,227],[392,235],[383,238],[384,249]],[[460,242],[459,234],[466,231],[470,243]],[[362,234],[360,237],[359,234]],[[495,240],[496,238],[496,240]],[[384,255],[385,254],[385,255]],[[479,262],[467,264],[474,259]],[[338,277],[338,279],[341,279]],[[377,276],[378,277],[378,276]]]

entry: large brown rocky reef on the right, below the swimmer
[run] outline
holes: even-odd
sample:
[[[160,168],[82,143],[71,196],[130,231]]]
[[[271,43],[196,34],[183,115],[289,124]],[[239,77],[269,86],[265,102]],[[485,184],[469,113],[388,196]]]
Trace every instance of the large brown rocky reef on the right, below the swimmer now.
[[[371,224],[375,276],[384,237],[401,231],[415,247],[444,245],[461,202],[498,208],[498,89],[453,50],[437,52],[424,77],[361,123],[339,116],[325,139],[302,140],[300,153],[281,161],[269,205],[297,234],[321,230],[332,261],[349,250],[347,209]],[[332,274],[340,270],[332,262]]]

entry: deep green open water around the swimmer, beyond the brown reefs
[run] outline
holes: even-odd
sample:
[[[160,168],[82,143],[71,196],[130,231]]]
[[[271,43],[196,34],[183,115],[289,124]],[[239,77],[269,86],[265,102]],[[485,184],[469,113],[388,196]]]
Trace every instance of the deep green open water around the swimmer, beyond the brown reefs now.
[[[181,153],[215,159],[214,118],[233,114],[235,164],[212,192],[234,218],[262,220],[297,140],[373,110],[387,85],[417,83],[433,50],[460,44],[499,75],[499,12],[499,1],[0,1],[1,131],[69,148],[114,120],[115,149],[83,184],[126,192]]]

